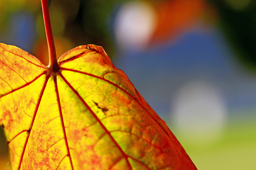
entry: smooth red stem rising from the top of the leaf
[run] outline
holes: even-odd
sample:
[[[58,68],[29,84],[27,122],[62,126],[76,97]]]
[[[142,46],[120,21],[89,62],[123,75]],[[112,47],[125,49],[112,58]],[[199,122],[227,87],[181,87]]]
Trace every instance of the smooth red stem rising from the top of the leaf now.
[[[44,16],[44,23],[45,23],[45,32],[49,50],[49,65],[48,67],[52,69],[52,71],[57,72],[59,70],[59,65],[57,62],[56,50],[51,30],[51,22],[48,10],[48,3],[47,0],[41,0],[42,3],[42,11]]]

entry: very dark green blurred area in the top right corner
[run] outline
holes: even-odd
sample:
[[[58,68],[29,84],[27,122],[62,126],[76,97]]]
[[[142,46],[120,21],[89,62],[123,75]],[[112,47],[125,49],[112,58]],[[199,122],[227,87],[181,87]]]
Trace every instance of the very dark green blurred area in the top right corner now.
[[[208,0],[219,13],[219,25],[246,67],[256,71],[256,1]]]

